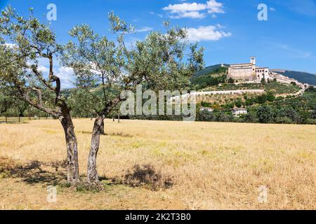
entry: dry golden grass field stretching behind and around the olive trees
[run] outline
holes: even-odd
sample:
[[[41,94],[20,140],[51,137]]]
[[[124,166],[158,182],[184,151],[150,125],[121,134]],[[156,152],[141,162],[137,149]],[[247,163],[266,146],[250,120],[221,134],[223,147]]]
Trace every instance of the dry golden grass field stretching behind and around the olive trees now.
[[[74,124],[84,178],[93,121]],[[0,124],[0,166],[27,170],[0,174],[0,209],[316,209],[316,125],[107,120],[105,132],[98,172],[107,185],[93,193],[65,187],[65,170],[51,167],[66,157],[58,120]],[[171,176],[173,186],[112,182],[146,164]],[[56,203],[46,202],[50,185]],[[268,188],[265,203],[259,186]]]

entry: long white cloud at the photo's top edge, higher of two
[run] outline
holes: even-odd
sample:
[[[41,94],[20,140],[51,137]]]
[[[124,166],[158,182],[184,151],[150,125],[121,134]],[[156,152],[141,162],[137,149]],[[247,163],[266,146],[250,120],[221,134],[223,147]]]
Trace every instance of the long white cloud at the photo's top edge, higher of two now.
[[[201,19],[206,16],[206,13],[212,14],[213,18],[216,18],[214,13],[225,13],[223,10],[223,3],[219,3],[216,0],[209,0],[206,3],[179,3],[162,8],[171,13],[170,18],[192,18]]]

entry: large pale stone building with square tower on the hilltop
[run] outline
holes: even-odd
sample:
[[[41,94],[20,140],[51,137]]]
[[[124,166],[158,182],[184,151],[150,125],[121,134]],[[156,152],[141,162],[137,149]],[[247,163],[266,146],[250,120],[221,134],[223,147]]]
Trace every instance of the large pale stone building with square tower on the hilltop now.
[[[262,78],[268,80],[269,68],[257,67],[256,57],[250,58],[250,63],[246,64],[231,64],[228,67],[228,78],[242,81],[260,82]]]

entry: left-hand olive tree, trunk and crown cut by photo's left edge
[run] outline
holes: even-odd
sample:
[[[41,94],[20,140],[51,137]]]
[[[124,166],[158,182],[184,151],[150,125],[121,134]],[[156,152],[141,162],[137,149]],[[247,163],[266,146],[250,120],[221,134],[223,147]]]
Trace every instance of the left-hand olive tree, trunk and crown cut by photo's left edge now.
[[[70,107],[60,92],[60,78],[54,74],[54,62],[60,45],[49,25],[31,13],[23,18],[9,6],[0,18],[0,83],[34,108],[60,120],[67,146],[67,181],[79,182],[77,138]],[[10,43],[10,44],[8,44]],[[39,60],[49,64],[48,76],[39,68]]]

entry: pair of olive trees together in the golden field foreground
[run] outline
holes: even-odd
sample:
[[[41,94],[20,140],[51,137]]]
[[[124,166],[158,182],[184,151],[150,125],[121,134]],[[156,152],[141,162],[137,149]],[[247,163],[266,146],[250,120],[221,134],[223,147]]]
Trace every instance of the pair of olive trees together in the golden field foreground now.
[[[80,25],[69,31],[71,41],[60,45],[49,25],[34,18],[32,10],[29,18],[21,17],[11,7],[1,13],[1,90],[12,91],[9,96],[60,120],[67,146],[67,181],[72,185],[80,182],[79,149],[71,115],[74,103],[82,102],[83,108],[96,116],[87,181],[98,185],[100,134],[105,117],[121,102],[121,91],[133,91],[138,84],[151,90],[183,89],[204,66],[203,49],[185,41],[186,29],[165,22],[164,31],[152,31],[133,48],[126,48],[124,37],[133,32],[133,27],[114,13],[109,14],[109,20],[115,41],[96,34],[88,25]],[[39,60],[47,62],[47,75],[39,69]],[[61,79],[54,72],[57,60],[73,69],[79,95],[70,97],[61,90]]]

